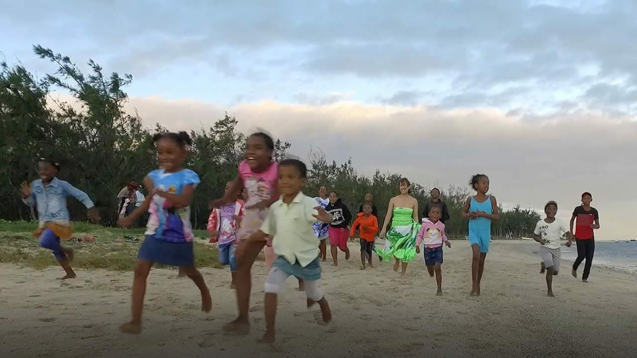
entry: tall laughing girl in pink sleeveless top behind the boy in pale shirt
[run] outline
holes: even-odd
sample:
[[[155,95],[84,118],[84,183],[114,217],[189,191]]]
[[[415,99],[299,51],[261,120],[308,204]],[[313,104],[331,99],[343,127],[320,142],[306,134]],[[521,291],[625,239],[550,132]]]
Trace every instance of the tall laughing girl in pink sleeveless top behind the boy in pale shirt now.
[[[221,199],[212,201],[208,206],[218,208],[233,203],[234,193],[245,187],[248,199],[245,202],[243,218],[236,233],[236,294],[239,315],[236,319],[224,324],[223,329],[236,334],[248,334],[250,321],[250,289],[252,278],[250,270],[257,255],[265,247],[266,267],[269,268],[276,259],[272,247],[266,247],[262,241],[247,241],[250,235],[261,228],[268,216],[269,207],[278,200],[278,163],[273,160],[275,144],[272,137],[264,132],[256,132],[248,137],[245,147],[245,160],[239,164],[238,175],[232,182],[231,189]],[[318,245],[317,245],[318,246]],[[239,255],[238,253],[243,254]],[[299,290],[303,282],[299,280]]]

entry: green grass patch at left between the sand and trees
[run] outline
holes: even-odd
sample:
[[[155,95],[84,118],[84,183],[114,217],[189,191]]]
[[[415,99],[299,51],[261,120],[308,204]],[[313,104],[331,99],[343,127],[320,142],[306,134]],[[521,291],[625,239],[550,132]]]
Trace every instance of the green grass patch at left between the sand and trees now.
[[[0,221],[0,262],[43,269],[58,266],[50,250],[41,248],[38,239],[32,232],[37,228],[33,222]],[[85,222],[73,223],[73,236],[95,236],[92,243],[78,243],[63,241],[62,245],[75,249],[73,268],[92,269],[101,268],[114,271],[129,271],[135,266],[137,252],[141,243],[117,243],[124,235],[143,240],[145,229],[121,229],[103,227]],[[195,231],[195,265],[199,268],[222,268],[218,260],[217,247],[206,245],[208,233],[204,230]],[[200,241],[200,242],[197,242]],[[157,266],[170,267],[170,266]]]

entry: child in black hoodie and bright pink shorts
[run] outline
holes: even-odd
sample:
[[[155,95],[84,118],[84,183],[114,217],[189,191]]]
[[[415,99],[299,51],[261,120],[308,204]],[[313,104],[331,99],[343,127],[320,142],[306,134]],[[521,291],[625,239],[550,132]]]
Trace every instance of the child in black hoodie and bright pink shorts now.
[[[329,193],[329,204],[325,210],[332,215],[332,223],[329,224],[329,250],[332,254],[333,265],[338,266],[338,249],[345,252],[345,260],[350,259],[350,249],[347,247],[347,238],[350,236],[349,225],[352,213],[339,199],[335,191]]]

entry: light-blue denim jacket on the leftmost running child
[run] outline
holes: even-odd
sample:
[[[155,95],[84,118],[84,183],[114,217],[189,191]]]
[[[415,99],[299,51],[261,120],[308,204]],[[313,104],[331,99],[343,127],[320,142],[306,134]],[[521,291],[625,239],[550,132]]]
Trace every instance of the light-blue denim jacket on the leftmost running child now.
[[[69,222],[69,210],[66,208],[66,197],[73,196],[82,201],[87,209],[94,206],[89,196],[64,180],[53,178],[45,187],[41,179],[31,182],[31,196],[23,199],[29,206],[38,206],[40,224],[45,222]]]

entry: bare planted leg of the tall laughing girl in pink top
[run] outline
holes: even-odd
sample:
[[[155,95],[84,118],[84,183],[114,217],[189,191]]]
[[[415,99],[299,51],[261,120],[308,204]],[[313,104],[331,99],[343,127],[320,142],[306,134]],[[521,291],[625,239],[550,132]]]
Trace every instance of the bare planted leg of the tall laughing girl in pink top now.
[[[239,308],[239,316],[224,324],[224,331],[231,331],[240,334],[248,334],[250,332],[250,322],[248,321],[248,310],[250,309],[250,289],[252,286],[252,278],[250,275],[250,269],[254,264],[255,259],[261,252],[264,243],[252,242],[248,243],[243,241],[239,245],[247,245],[245,254],[236,257],[237,271],[236,271],[236,285],[237,285],[237,306]]]

